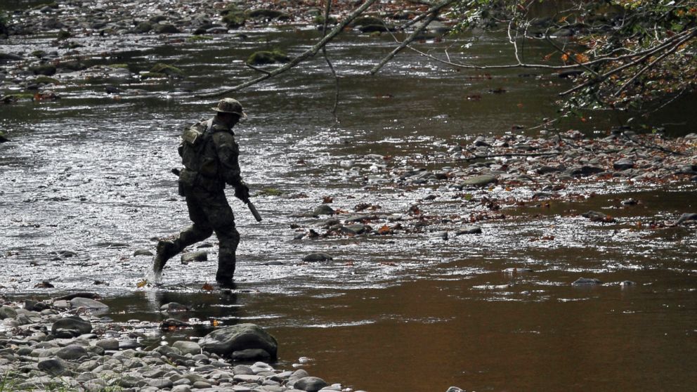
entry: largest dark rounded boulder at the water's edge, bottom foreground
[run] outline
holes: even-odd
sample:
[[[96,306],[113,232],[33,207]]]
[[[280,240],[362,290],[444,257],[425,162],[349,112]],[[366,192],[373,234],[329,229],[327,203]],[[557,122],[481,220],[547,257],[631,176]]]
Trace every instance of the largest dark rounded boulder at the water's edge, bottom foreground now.
[[[278,355],[278,341],[259,325],[250,323],[217,329],[200,339],[199,344],[205,351],[228,357],[249,348],[260,348],[273,360]]]

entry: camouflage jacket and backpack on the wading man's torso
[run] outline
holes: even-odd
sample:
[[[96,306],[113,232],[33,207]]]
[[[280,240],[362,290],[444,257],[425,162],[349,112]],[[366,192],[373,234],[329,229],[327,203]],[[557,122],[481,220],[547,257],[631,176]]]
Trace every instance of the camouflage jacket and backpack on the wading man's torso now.
[[[211,124],[208,128],[208,124]],[[185,142],[179,145],[179,155],[188,171],[195,173],[189,186],[200,186],[207,190],[222,190],[225,184],[234,187],[242,184],[240,148],[232,129],[217,122],[215,117],[193,125],[203,133],[200,145],[194,147]],[[181,178],[183,180],[183,178]]]

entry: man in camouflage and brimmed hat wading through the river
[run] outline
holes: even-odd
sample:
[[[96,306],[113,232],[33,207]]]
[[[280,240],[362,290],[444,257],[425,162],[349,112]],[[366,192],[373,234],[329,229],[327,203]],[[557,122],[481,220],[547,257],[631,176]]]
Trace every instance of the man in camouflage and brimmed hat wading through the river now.
[[[240,152],[232,130],[246,115],[242,105],[232,98],[221,99],[218,107],[212,109],[217,112],[215,117],[194,124],[182,134],[179,155],[184,169],[179,172],[179,195],[186,197],[193,225],[175,240],[157,242],[152,266],[156,280],[167,260],[215,232],[220,242],[216,281],[220,285],[233,282],[240,233],[235,229],[235,216],[224,189],[226,183],[232,185],[235,197],[249,204],[249,188],[240,176]]]

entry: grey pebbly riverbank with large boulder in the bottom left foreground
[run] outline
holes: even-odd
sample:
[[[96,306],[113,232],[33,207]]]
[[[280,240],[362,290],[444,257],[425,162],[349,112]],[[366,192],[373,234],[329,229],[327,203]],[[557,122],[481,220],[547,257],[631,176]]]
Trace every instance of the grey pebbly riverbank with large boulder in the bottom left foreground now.
[[[162,306],[164,314],[182,308]],[[268,361],[275,360],[277,342],[259,326],[221,327],[197,341],[163,339],[144,346],[143,338],[157,331],[138,320],[129,328],[96,315],[107,309],[105,303],[79,296],[4,301],[0,391],[353,391],[302,369],[276,370]],[[174,318],[159,325],[187,327]]]

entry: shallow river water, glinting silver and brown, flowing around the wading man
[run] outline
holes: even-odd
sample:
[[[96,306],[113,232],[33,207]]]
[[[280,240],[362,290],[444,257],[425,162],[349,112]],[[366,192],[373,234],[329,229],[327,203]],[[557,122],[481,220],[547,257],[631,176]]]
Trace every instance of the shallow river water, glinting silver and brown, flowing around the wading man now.
[[[188,224],[169,169],[179,166],[183,126],[208,116],[214,105],[194,94],[254,75],[242,60],[260,41],[297,54],[314,32],[245,34],[204,43],[184,35],[86,39],[81,50],[90,62],[129,63],[138,70],[176,63],[188,77],[76,79],[56,89],[63,97],[57,102],[0,107],[0,126],[13,140],[0,145],[4,294],[98,292],[111,306],[108,317],[150,322],[142,327],[146,344],[163,338],[156,328],[165,317],[159,306],[186,303],[195,309],[176,317],[195,318],[196,327],[164,339],[202,336],[214,320],[254,322],[280,341],[278,367],[307,357],[302,365],[311,374],[373,392],[445,391],[450,385],[477,391],[692,387],[697,235],[693,228],[646,230],[636,223],[694,212],[693,185],[584,185],[573,190],[587,196],[582,202],[507,209],[509,218],[481,223],[483,235],[455,236],[460,224],[442,221],[393,236],[293,240],[299,232],[289,228],[292,223],[322,231],[320,221],[292,214],[310,211],[325,196],[345,211],[379,205],[363,213],[382,216],[373,226],[408,218],[413,204],[424,214],[467,216],[471,207],[453,200],[454,190],[397,188],[381,181],[384,166],[419,166],[426,155],[445,156],[444,143],[535,126],[554,116],[552,93],[565,87],[556,75],[511,72],[489,79],[411,53],[400,54],[377,77],[364,76],[375,53],[391,48],[387,38],[377,48],[377,39],[362,35],[330,46],[341,75],[338,127],[331,127],[333,80],[321,58],[233,94],[249,114],[236,130],[245,179],[252,192],[277,188],[284,195],[254,197],[264,216],[259,224],[230,192],[242,234],[232,293],[201,289],[213,279],[214,261],[184,266],[176,259],[164,272],[163,287],[138,289],[150,257],[133,252],[154,250],[156,237]],[[13,38],[0,42],[0,51],[51,48],[50,41]],[[429,50],[450,44],[420,45]],[[500,60],[499,39],[483,37],[478,45],[481,58]],[[106,85],[142,91],[113,96],[104,92]],[[496,89],[506,92],[489,92]],[[599,133],[614,122],[598,120]],[[457,165],[462,162],[442,164]],[[482,192],[489,191],[506,192]],[[290,197],[300,193],[306,197]],[[436,200],[424,200],[429,195]],[[640,203],[622,207],[619,201],[628,197]],[[618,223],[579,216],[589,209],[606,211]],[[340,217],[346,216],[353,213]],[[216,258],[215,246],[204,249]],[[302,263],[313,251],[334,260]],[[275,262],[281,264],[268,265]],[[604,285],[572,286],[578,277]],[[623,285],[625,280],[635,284]],[[42,281],[56,288],[34,288]]]

